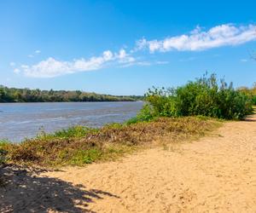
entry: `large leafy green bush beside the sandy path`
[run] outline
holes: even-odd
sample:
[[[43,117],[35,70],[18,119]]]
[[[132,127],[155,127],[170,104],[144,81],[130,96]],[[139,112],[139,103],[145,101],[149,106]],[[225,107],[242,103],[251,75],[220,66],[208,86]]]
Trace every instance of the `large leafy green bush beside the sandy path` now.
[[[177,89],[148,89],[146,101],[150,111],[143,111],[138,118],[178,117],[202,115],[213,118],[241,119],[253,112],[253,101],[240,90],[233,89],[212,74],[205,75]]]

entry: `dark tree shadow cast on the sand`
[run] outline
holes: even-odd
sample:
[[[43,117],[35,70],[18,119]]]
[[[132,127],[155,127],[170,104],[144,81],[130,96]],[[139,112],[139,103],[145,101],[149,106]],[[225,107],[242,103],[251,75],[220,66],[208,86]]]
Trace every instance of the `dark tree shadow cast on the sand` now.
[[[88,204],[111,193],[55,178],[38,176],[44,170],[0,166],[0,212],[93,212]]]

